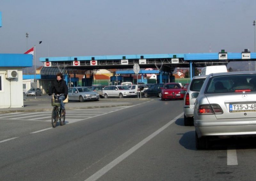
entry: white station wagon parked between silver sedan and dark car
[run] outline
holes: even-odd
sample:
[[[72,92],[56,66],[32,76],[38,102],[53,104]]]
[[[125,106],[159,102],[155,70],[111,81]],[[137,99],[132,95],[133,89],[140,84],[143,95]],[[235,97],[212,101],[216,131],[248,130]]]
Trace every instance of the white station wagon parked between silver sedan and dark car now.
[[[109,97],[119,97],[119,98],[124,98],[124,97],[135,97],[137,94],[130,90],[128,87],[124,85],[111,85],[111,86],[106,86],[104,87],[102,91],[102,96],[104,98],[109,98]]]

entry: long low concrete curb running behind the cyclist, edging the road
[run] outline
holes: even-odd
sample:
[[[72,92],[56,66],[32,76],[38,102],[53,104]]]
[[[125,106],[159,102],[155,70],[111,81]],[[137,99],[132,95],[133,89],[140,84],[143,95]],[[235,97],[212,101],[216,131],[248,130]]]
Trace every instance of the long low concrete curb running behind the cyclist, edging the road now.
[[[66,110],[74,109],[91,109],[91,108],[105,108],[105,107],[120,107],[120,106],[129,106],[133,105],[132,103],[125,103],[121,105],[98,105],[98,106],[80,106],[80,107],[66,107]],[[19,110],[6,110],[1,111],[0,113],[10,113],[10,112],[36,112],[36,111],[52,111],[52,108],[38,108],[38,109],[19,109]]]

